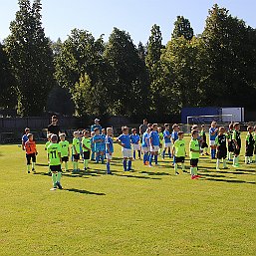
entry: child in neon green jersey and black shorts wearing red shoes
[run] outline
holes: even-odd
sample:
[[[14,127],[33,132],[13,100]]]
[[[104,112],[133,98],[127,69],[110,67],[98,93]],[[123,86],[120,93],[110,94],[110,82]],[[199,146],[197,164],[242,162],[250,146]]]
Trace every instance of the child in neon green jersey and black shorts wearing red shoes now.
[[[189,143],[191,179],[196,179],[200,177],[200,175],[197,175],[197,164],[199,161],[200,152],[201,150],[198,141],[198,130],[193,129],[191,132],[191,140]]]

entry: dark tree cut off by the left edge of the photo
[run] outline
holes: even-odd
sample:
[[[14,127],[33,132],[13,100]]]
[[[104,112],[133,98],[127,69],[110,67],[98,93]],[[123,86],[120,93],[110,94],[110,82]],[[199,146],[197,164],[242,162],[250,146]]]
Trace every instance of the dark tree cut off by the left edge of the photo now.
[[[4,46],[0,44],[0,109],[14,109],[16,101],[15,80],[11,73]]]

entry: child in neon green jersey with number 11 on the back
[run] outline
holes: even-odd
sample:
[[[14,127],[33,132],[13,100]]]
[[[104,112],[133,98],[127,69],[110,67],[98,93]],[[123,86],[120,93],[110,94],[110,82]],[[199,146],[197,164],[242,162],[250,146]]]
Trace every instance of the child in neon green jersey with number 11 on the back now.
[[[56,190],[57,187],[62,189],[61,146],[58,143],[58,136],[56,134],[52,134],[51,140],[52,142],[48,145],[47,152],[53,179],[53,188],[51,190]]]

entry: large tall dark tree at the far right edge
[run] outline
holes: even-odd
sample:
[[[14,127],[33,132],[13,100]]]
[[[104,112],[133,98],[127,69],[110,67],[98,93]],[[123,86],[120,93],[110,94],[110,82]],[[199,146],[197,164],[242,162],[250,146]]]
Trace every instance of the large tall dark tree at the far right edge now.
[[[250,34],[254,34],[253,30],[243,20],[232,17],[227,9],[214,5],[209,10],[202,34],[202,81],[208,104],[253,108],[254,79],[249,77],[254,76],[248,70],[255,71],[255,38]]]

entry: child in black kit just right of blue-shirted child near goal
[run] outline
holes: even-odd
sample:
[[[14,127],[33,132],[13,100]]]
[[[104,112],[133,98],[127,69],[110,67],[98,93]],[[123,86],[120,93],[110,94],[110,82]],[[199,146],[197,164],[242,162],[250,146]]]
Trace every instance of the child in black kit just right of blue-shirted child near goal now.
[[[223,167],[227,169],[226,157],[227,157],[227,137],[225,134],[225,128],[219,128],[219,133],[215,138],[215,145],[217,148],[217,163],[216,169],[220,170],[220,160],[223,159]]]

